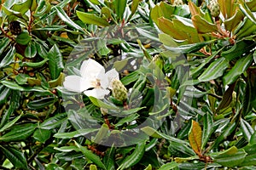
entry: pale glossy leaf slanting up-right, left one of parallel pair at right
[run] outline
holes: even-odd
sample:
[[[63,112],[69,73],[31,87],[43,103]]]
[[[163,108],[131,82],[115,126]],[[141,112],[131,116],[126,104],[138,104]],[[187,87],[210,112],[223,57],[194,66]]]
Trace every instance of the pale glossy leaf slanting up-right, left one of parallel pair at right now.
[[[228,68],[229,61],[224,58],[216,59],[212,62],[211,65],[207,67],[207,70],[204,71],[198,80],[200,82],[208,82],[214,80],[218,77],[221,77],[224,74],[224,71]]]

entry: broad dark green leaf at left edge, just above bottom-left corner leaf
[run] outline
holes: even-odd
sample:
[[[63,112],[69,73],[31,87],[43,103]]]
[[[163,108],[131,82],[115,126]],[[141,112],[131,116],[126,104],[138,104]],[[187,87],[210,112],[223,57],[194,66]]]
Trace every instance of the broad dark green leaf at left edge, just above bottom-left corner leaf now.
[[[12,127],[9,133],[5,133],[3,136],[1,136],[0,141],[14,142],[26,140],[26,138],[28,138],[34,132],[36,127],[37,125],[32,123],[17,125]]]

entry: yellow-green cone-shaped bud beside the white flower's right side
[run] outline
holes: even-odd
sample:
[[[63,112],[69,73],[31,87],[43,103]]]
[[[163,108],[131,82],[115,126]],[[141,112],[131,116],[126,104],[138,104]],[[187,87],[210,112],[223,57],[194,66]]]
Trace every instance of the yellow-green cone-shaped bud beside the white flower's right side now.
[[[119,79],[113,79],[112,81],[113,97],[119,101],[125,101],[127,99],[127,89],[119,81]]]

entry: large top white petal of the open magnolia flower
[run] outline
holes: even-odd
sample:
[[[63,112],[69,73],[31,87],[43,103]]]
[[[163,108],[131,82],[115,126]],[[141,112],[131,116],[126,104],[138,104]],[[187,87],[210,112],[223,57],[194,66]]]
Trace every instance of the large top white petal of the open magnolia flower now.
[[[80,74],[82,77],[95,78],[101,73],[105,73],[105,69],[94,59],[84,60],[80,68]]]

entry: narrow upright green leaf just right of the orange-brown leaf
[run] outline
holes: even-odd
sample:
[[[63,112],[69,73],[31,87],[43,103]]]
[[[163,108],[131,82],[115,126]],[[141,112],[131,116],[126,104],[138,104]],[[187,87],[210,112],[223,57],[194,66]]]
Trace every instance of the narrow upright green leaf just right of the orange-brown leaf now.
[[[212,134],[212,129],[213,129],[213,120],[212,120],[212,116],[209,113],[206,113],[203,116],[203,131],[202,131],[202,144],[201,144],[201,150],[206,146],[208,140],[211,137]]]

